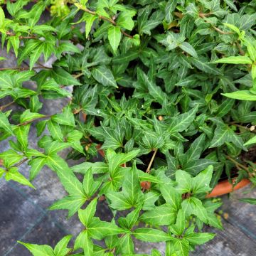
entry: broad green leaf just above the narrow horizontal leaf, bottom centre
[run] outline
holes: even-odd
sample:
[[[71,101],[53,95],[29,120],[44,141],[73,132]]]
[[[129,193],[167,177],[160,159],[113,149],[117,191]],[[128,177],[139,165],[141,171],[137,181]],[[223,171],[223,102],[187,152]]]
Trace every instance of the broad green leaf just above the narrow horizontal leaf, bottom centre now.
[[[139,220],[151,225],[171,225],[176,220],[176,208],[163,204],[143,213]]]

